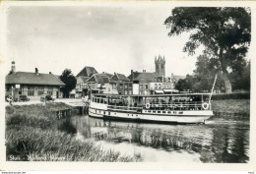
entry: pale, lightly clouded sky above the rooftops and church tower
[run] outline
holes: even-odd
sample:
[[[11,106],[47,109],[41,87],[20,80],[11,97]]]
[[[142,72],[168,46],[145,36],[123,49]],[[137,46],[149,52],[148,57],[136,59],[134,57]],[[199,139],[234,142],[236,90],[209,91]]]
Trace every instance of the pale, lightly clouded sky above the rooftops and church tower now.
[[[17,71],[77,75],[96,71],[155,72],[155,56],[165,57],[165,74],[192,74],[196,56],[182,52],[189,33],[169,37],[163,25],[173,6],[87,5],[11,6],[7,11],[7,61]]]

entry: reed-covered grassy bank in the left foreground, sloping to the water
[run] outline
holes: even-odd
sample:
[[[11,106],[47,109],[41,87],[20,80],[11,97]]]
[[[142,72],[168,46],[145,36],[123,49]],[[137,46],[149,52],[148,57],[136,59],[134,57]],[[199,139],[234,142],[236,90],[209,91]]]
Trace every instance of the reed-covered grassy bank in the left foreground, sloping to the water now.
[[[56,108],[63,103],[6,107],[7,160],[30,161],[138,161],[136,156],[123,156],[112,150],[102,150],[90,141],[57,129]]]

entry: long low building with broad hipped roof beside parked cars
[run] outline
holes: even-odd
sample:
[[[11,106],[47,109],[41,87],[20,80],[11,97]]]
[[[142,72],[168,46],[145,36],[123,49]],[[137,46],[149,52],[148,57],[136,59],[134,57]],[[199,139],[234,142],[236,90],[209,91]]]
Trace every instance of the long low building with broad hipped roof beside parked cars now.
[[[51,74],[42,74],[35,68],[34,73],[16,72],[15,62],[12,62],[12,68],[9,75],[5,78],[6,94],[18,97],[19,95],[28,95],[31,99],[39,99],[43,94],[51,94],[56,98],[63,96],[60,87],[65,84],[57,76]]]

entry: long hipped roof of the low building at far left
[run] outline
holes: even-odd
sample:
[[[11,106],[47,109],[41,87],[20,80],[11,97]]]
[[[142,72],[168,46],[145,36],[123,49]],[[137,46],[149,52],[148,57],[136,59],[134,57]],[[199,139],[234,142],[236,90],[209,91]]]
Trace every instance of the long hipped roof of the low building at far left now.
[[[6,84],[21,84],[21,85],[44,85],[44,86],[65,86],[65,84],[60,81],[53,74],[42,74],[29,72],[17,72],[11,75],[7,75],[5,78]]]

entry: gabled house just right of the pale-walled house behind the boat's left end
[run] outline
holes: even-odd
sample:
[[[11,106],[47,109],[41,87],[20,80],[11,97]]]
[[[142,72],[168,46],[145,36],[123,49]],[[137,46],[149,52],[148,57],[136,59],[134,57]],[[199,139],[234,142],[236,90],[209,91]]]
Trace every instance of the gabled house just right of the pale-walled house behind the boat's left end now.
[[[114,73],[111,80],[116,82],[117,91],[119,94],[133,94],[133,82],[130,81],[125,75]]]

